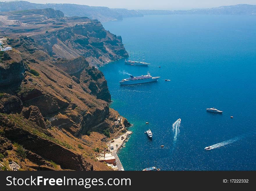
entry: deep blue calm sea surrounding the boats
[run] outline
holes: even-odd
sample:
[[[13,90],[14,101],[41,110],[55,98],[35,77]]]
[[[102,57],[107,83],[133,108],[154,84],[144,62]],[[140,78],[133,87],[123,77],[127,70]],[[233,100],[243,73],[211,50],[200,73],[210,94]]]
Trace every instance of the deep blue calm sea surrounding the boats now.
[[[128,52],[141,51],[142,58],[145,51],[151,63],[131,66],[121,59],[100,68],[111,107],[133,124],[131,139],[119,151],[125,170],[256,170],[255,18],[157,15],[103,24],[122,36]],[[148,71],[161,78],[119,85],[126,73]],[[210,107],[223,114],[207,112]],[[152,140],[144,133],[148,128]],[[215,149],[204,149],[214,144]]]

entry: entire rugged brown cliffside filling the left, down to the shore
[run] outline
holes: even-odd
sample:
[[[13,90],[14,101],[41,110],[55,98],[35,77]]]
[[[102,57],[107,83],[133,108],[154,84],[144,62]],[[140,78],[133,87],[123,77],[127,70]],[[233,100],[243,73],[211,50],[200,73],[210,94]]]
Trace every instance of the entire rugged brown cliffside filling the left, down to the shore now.
[[[56,24],[61,20],[65,23]],[[13,50],[1,57],[0,145],[4,140],[11,145],[0,152],[17,160],[17,144],[23,145],[23,169],[109,170],[94,160],[96,148],[104,150],[129,126],[125,118],[116,125],[120,115],[109,108],[107,82],[94,66],[126,55],[121,38],[98,21],[74,20],[81,18],[47,19],[44,29],[37,24],[4,29],[9,35],[4,43]]]

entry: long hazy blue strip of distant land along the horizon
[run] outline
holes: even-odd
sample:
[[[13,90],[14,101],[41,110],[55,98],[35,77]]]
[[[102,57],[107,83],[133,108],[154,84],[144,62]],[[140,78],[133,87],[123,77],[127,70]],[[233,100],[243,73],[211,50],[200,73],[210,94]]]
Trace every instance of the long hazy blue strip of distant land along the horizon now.
[[[66,17],[89,17],[98,19],[100,22],[111,20],[122,20],[124,17],[143,17],[144,15],[173,15],[173,14],[221,14],[221,15],[256,15],[256,5],[231,5],[207,9],[191,10],[128,10],[120,8],[94,7],[87,5],[67,4],[67,3],[47,3],[37,4],[28,1],[6,1],[0,2],[0,12],[45,9],[53,8],[60,10]]]

